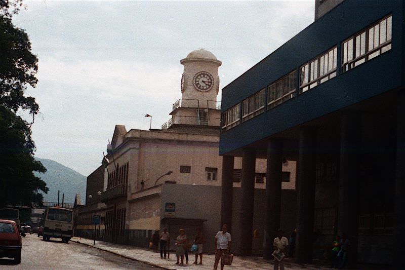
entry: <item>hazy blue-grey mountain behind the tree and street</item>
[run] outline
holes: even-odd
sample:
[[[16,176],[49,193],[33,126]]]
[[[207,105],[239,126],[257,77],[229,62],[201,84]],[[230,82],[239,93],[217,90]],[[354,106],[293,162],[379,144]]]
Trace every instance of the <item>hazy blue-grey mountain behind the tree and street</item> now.
[[[35,158],[47,168],[46,173],[35,172],[35,176],[41,177],[49,187],[48,194],[44,194],[46,202],[58,202],[58,190],[60,190],[60,203],[62,194],[65,194],[65,203],[74,203],[77,193],[82,198],[86,197],[86,176],[53,160]]]

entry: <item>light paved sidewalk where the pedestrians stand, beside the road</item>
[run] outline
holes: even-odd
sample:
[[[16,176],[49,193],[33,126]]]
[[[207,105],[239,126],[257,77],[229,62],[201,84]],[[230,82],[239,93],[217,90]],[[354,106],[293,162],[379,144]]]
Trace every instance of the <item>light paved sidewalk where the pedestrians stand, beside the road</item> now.
[[[175,265],[176,263],[176,255],[174,252],[170,253],[170,259],[160,259],[160,254],[153,252],[148,249],[143,249],[135,246],[128,246],[128,245],[118,245],[113,244],[110,242],[103,242],[103,241],[96,241],[96,245],[93,245],[94,240],[90,239],[80,239],[78,237],[73,237],[70,241],[85,244],[94,248],[98,248],[101,250],[105,250],[108,252],[115,253],[117,255],[127,257],[130,259],[134,259],[137,261],[142,261],[148,263],[153,266],[161,267],[163,269],[188,269],[188,270],[212,270],[214,267],[215,257],[213,254],[203,254],[203,264],[193,264],[195,255],[193,253],[189,253],[189,261],[188,264],[184,264],[184,266]],[[285,259],[285,269],[286,270],[297,270],[297,269],[306,269],[306,270],[324,270],[330,269],[326,266],[320,266],[316,264],[298,264],[293,262],[291,259]],[[199,258],[198,258],[199,262]],[[184,260],[185,263],[185,260]],[[225,265],[224,270],[232,269],[232,270],[250,270],[250,269],[258,269],[258,270],[273,270],[273,261],[264,260],[260,257],[241,257],[241,256],[234,256],[233,262],[231,266]],[[218,265],[218,270],[220,269],[220,265]]]

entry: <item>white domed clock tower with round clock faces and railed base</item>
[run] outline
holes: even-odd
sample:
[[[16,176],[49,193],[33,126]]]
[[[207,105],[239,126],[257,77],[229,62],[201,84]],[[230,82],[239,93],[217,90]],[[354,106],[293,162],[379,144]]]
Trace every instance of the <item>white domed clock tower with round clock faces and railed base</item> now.
[[[179,126],[220,126],[221,110],[218,108],[218,67],[222,64],[215,55],[204,49],[192,51],[181,59],[184,66],[181,76],[181,99],[173,104],[172,119],[163,129]]]

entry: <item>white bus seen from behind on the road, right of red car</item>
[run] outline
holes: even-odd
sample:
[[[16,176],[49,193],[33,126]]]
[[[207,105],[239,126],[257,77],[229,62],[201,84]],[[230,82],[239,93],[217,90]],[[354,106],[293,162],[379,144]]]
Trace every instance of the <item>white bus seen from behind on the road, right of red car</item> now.
[[[62,243],[68,243],[73,236],[73,211],[50,207],[45,211],[44,241],[52,238],[62,239]]]

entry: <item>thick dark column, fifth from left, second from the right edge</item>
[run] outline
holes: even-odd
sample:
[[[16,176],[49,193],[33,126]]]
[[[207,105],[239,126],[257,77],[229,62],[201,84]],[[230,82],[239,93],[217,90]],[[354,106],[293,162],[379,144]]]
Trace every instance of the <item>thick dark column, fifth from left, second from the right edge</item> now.
[[[357,261],[358,172],[361,154],[361,115],[345,112],[342,117],[339,165],[338,234],[350,241],[348,264]]]

